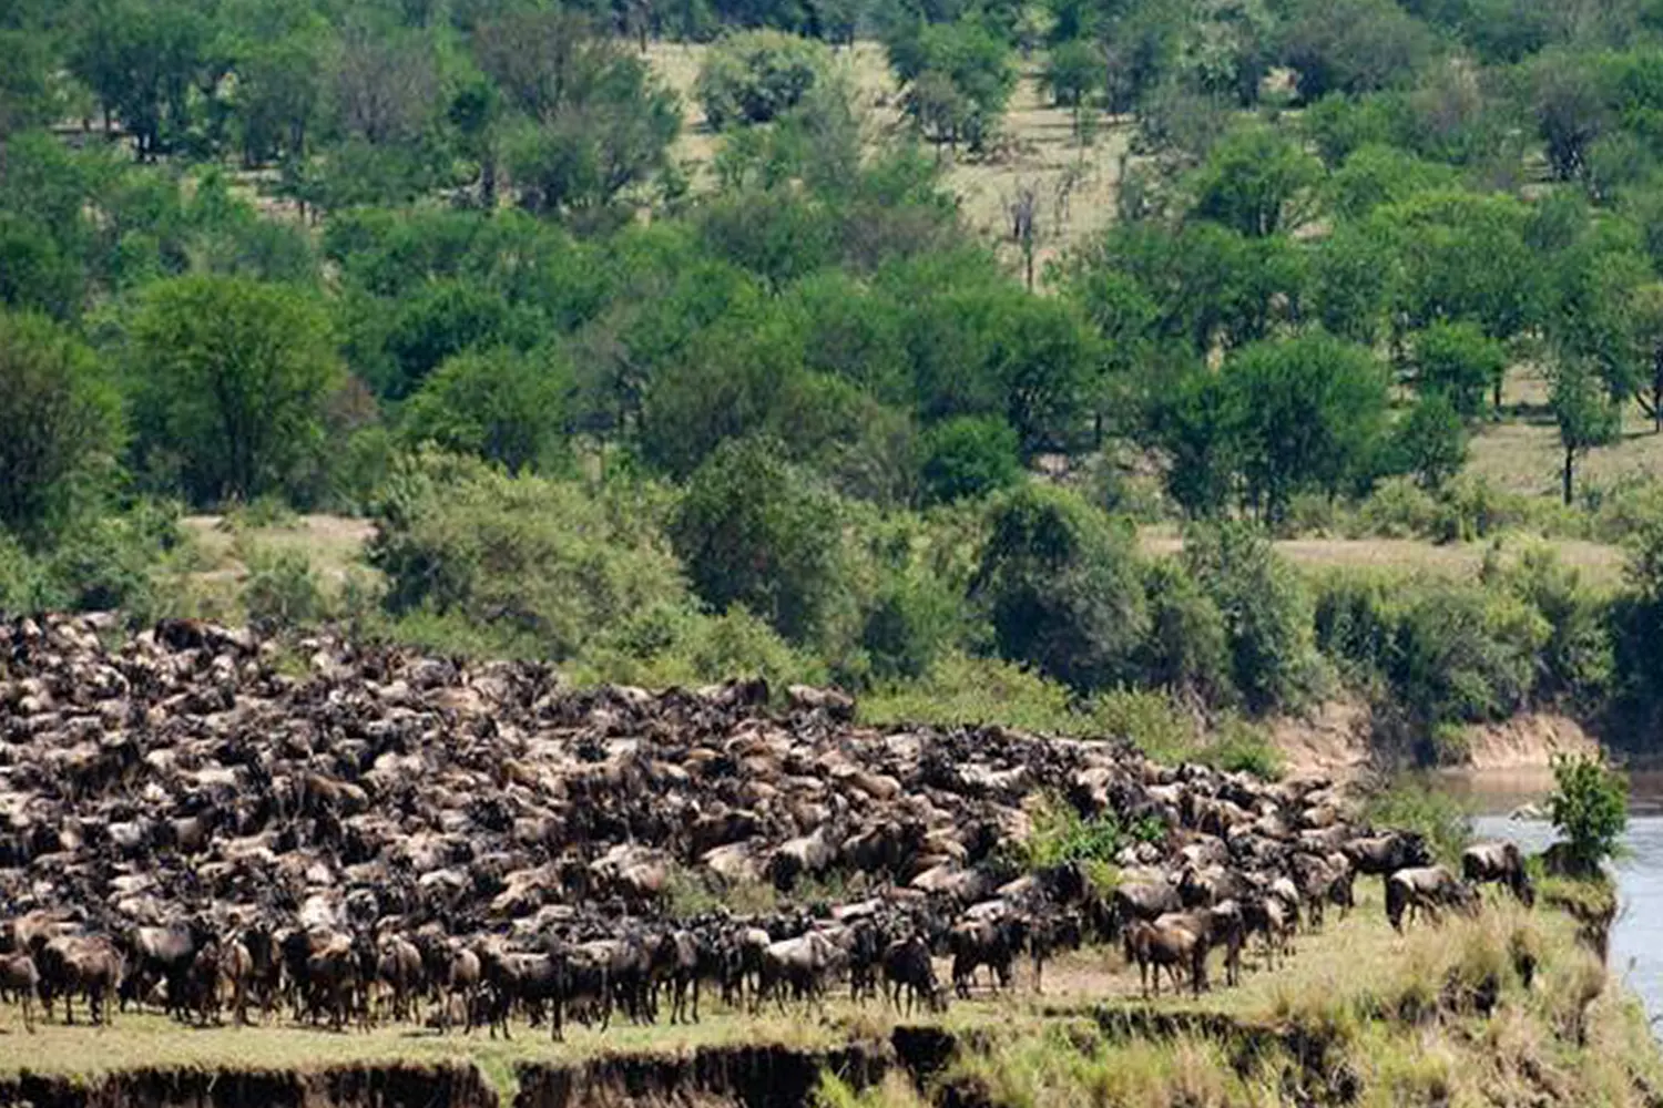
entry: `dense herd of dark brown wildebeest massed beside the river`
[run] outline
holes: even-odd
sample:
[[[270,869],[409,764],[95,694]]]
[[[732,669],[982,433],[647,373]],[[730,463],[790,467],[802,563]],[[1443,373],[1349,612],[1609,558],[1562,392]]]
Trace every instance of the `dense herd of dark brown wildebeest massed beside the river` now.
[[[1016,965],[1039,988],[1083,944],[1146,993],[1162,972],[1199,992],[1209,952],[1229,983],[1244,950],[1274,968],[1359,875],[1385,879],[1394,927],[1472,909],[1480,880],[1532,897],[1510,844],[1457,877],[1419,836],[1349,822],[1327,781],[775,701],[198,621],[0,623],[0,998],[27,1027],[81,1005],[559,1038],[698,1020],[702,993],[938,1010]],[[1113,882],[1016,846],[1046,804],[1139,829]]]

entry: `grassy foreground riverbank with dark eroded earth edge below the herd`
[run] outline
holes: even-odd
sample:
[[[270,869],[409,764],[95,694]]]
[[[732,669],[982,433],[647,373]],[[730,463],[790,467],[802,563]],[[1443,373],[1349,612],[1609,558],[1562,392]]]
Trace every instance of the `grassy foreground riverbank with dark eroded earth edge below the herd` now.
[[[226,1108],[1028,1108],[1029,1105],[1655,1105],[1663,1057],[1640,1005],[1563,912],[1490,899],[1394,934],[1379,885],[1239,988],[1144,1002],[1114,950],[1036,995],[905,1020],[846,1002],[693,1028],[574,1030],[552,1045],[412,1030],[40,1027],[0,1013],[0,1105]],[[1219,973],[1222,972],[1222,967]],[[841,1100],[840,1100],[841,1098]]]

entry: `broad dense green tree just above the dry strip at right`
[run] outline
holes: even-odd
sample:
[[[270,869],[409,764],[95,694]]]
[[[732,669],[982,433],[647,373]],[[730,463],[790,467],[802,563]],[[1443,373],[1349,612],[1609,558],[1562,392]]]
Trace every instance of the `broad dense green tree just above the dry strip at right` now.
[[[1385,429],[1389,382],[1365,347],[1325,334],[1259,342],[1224,364],[1246,492],[1279,522],[1294,493],[1367,480]]]

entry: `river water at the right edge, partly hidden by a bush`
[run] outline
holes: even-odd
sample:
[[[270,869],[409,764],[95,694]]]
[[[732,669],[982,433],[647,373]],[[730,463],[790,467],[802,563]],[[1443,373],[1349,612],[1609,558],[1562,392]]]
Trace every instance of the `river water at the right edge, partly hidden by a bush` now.
[[[1472,804],[1477,837],[1513,839],[1532,851],[1553,841],[1545,819],[1520,811],[1545,807],[1552,774],[1482,772],[1452,777],[1447,787]],[[1626,854],[1616,864],[1621,909],[1611,932],[1611,968],[1653,1017],[1663,1018],[1663,771],[1630,776],[1628,814]]]

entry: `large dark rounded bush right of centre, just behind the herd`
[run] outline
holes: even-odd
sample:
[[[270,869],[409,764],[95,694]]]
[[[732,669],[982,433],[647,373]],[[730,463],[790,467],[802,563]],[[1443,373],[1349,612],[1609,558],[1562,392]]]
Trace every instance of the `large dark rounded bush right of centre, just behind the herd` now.
[[[971,595],[1009,661],[1078,689],[1136,674],[1149,615],[1133,537],[1069,492],[994,500]]]

